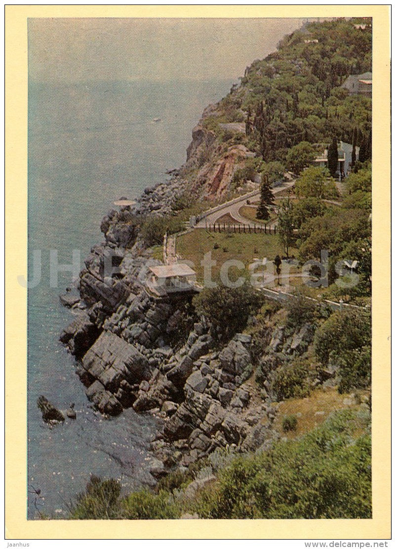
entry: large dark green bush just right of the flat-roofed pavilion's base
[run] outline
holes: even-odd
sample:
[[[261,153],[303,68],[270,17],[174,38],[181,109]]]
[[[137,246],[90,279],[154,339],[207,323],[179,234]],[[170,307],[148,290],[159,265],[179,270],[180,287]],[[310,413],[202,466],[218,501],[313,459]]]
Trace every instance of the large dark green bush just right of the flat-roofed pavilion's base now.
[[[208,318],[220,338],[232,338],[241,332],[248,322],[249,315],[262,304],[262,296],[250,284],[239,288],[204,288],[194,296],[193,305],[198,315]]]

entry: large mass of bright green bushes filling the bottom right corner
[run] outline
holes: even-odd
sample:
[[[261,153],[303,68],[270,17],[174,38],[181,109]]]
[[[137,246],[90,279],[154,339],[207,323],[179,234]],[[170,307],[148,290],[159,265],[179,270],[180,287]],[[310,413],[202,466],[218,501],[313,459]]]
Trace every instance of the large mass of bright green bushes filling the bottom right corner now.
[[[237,458],[192,510],[215,519],[370,518],[368,421],[338,412],[300,439]],[[354,439],[359,428],[364,434]]]

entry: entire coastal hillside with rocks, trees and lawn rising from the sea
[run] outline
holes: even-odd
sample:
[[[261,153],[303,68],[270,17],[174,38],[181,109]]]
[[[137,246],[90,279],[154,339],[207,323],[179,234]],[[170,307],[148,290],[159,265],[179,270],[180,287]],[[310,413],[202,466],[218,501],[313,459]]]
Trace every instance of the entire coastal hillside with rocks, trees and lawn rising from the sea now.
[[[205,109],[186,164],[102,221],[105,242],[80,274],[84,314],[61,340],[105,417],[133,407],[158,418],[157,484],[125,496],[93,477],[71,518],[371,516],[371,97],[343,87],[371,71],[371,26],[358,22],[286,36]],[[222,227],[179,235],[252,189],[253,231],[223,215]],[[166,267],[213,251],[215,284],[154,293],[164,233],[175,247]],[[227,285],[222,265],[236,258]],[[272,297],[265,280],[259,291],[233,284],[257,261],[276,272]],[[291,266],[306,278],[292,272],[286,292]]]

